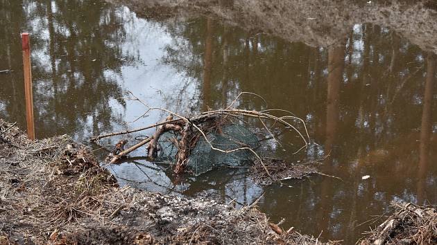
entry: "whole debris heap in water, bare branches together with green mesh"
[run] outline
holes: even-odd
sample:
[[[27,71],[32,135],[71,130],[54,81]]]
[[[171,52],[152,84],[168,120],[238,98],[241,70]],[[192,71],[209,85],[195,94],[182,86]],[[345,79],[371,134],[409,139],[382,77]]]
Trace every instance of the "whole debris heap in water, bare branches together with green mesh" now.
[[[248,128],[254,127],[256,123],[259,123],[259,125],[263,126],[264,134],[273,138],[278,144],[280,143],[273,135],[273,129],[281,128],[284,131],[292,131],[302,140],[302,147],[297,152],[307,148],[309,145],[310,139],[305,121],[294,116],[290,111],[284,109],[255,111],[236,107],[239,97],[246,94],[261,98],[266,102],[264,98],[255,93],[241,92],[224,109],[203,111],[189,117],[182,116],[168,109],[149,107],[146,102],[137,98],[132,92],[128,91],[127,93],[130,97],[126,98],[126,100],[137,100],[144,105],[146,108],[144,115],[153,110],[162,111],[169,115],[161,123],[155,123],[154,125],[148,125],[139,129],[92,137],[92,141],[98,142],[101,138],[130,134],[153,127],[156,128],[152,136],[148,136],[146,139],[119,152],[117,155],[112,154],[112,158],[108,161],[110,164],[117,163],[126,154],[148,144],[148,158],[151,160],[159,158],[160,161],[162,159],[171,161],[174,163],[173,172],[175,174],[194,172],[194,174],[198,175],[212,170],[212,168],[219,165],[234,167],[242,162],[253,161],[255,159],[262,165],[271,181],[275,182],[268,168],[264,165],[263,158],[259,156],[259,153],[255,152],[260,145],[259,140]],[[298,128],[303,128],[305,131],[301,132]],[[277,181],[280,181],[280,179],[277,179]]]

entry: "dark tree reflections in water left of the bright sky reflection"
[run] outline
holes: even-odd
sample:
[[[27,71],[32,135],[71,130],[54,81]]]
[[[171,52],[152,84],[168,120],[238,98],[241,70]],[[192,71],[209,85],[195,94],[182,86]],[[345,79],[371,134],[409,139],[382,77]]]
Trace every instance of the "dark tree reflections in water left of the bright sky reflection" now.
[[[116,9],[102,1],[1,1],[3,35],[0,56],[5,69],[15,72],[1,77],[1,117],[24,125],[20,36],[31,33],[35,125],[39,137],[75,134],[84,138],[111,123],[110,100],[121,98],[121,87],[110,73],[135,57],[121,51],[125,21]],[[3,64],[1,69],[3,69]],[[12,93],[12,94],[11,94]],[[11,98],[11,100],[7,99]],[[119,100],[124,105],[123,100]]]

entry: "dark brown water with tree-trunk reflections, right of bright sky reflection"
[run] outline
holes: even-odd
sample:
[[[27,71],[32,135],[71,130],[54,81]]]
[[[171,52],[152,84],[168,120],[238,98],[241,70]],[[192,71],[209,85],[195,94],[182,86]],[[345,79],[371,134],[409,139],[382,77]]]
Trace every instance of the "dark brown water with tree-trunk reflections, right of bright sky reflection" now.
[[[207,86],[214,107],[226,105],[223,100],[232,100],[234,91],[253,91],[264,96],[270,108],[289,109],[307,118],[310,135],[323,147],[311,145],[305,154],[295,157],[274,143],[269,149],[291,161],[329,154],[321,168],[345,180],[316,178],[316,183],[301,183],[300,188],[291,190],[264,188],[259,205],[273,219],[288,217],[286,224],[299,223],[307,233],[314,233],[314,224],[318,224],[323,236],[352,242],[367,229],[357,225],[370,214],[379,214],[392,199],[417,202],[422,191],[427,192],[427,200],[437,200],[433,182],[418,182],[416,190],[414,177],[421,107],[430,104],[427,98],[422,99],[426,52],[393,31],[372,24],[355,25],[345,44],[336,48],[311,48],[220,24],[214,28],[212,60],[216,62]],[[200,55],[209,48],[198,35],[206,30],[204,19],[189,21],[187,26],[169,26],[176,40],[182,36],[189,42],[173,42],[167,47],[164,62],[201,81],[199,69],[205,64]],[[198,58],[187,66],[179,60],[182,53]],[[257,100],[239,103],[248,109],[263,106]],[[428,110],[429,115],[435,114],[434,107]],[[431,137],[436,120],[429,121],[434,123],[422,134]],[[281,140],[293,143],[295,139],[284,135]],[[436,169],[421,171],[429,178],[429,171],[435,176]],[[371,179],[361,181],[366,174]],[[221,188],[225,186],[211,189]]]

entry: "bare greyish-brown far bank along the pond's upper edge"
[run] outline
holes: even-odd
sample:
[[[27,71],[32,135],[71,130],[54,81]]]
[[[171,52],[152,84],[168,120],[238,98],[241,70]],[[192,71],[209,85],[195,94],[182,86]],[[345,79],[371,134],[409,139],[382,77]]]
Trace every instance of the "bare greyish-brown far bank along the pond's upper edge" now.
[[[328,47],[342,44],[355,24],[371,23],[395,30],[424,51],[437,53],[435,1],[247,1],[247,0],[107,0],[123,4],[141,17],[187,19],[213,17],[289,42]]]

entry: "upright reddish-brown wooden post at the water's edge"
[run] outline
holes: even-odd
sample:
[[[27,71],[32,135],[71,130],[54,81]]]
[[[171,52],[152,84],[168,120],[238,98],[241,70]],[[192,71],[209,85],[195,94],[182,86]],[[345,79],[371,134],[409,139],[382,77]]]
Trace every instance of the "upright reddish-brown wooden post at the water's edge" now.
[[[33,127],[33,92],[32,92],[32,71],[31,71],[31,45],[29,34],[22,33],[23,66],[24,66],[24,96],[26,98],[26,122],[27,136],[35,139],[35,128]]]

